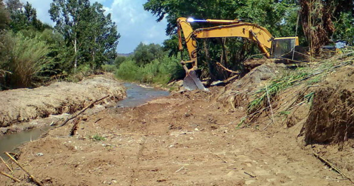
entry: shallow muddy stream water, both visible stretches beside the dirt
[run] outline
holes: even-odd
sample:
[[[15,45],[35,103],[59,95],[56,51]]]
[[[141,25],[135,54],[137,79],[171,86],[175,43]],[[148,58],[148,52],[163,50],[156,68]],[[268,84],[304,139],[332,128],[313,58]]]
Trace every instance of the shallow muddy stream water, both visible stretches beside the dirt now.
[[[136,107],[154,98],[169,95],[169,92],[167,91],[155,88],[144,88],[133,83],[124,83],[123,85],[126,88],[127,97],[124,100],[118,101],[116,107]],[[0,136],[0,156],[7,159],[3,152],[14,152],[14,148],[18,147],[24,142],[38,139],[51,128],[51,126],[45,126],[18,132],[16,134]]]

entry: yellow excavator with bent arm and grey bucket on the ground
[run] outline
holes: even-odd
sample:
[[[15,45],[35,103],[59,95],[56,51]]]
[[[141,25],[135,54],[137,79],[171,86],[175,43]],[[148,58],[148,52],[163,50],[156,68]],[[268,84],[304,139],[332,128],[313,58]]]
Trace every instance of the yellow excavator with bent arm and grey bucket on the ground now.
[[[203,22],[220,24],[215,27],[199,28],[193,30],[190,23]],[[195,70],[198,69],[197,63],[197,38],[218,38],[218,37],[242,37],[255,41],[259,50],[266,58],[282,56],[295,49],[299,45],[298,37],[274,38],[267,29],[255,24],[243,22],[242,19],[218,20],[206,19],[198,20],[193,18],[180,17],[177,19],[177,33],[179,41],[179,50],[183,50],[182,33],[185,44],[187,45],[189,58],[188,61],[181,61],[186,76],[183,80],[183,86],[187,90],[201,89],[205,87],[196,76]],[[268,51],[269,50],[269,51]],[[188,68],[186,63],[191,63]]]

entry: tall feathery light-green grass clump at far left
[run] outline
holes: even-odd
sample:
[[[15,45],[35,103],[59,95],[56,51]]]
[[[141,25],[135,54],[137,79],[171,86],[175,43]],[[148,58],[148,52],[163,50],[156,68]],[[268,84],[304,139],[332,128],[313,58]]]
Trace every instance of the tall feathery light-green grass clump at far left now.
[[[21,32],[6,33],[0,41],[6,49],[6,57],[0,59],[0,68],[11,72],[6,74],[6,82],[13,88],[33,87],[36,82],[44,80],[53,60],[47,57],[52,50],[40,36],[28,38]],[[4,45],[6,48],[4,48]]]

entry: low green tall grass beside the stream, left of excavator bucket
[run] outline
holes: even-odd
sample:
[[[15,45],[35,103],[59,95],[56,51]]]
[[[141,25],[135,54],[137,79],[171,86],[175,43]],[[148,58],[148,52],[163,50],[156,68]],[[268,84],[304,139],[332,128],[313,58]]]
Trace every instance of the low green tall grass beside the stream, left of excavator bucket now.
[[[118,78],[127,81],[167,84],[171,80],[182,78],[184,70],[177,58],[165,56],[143,66],[138,66],[133,60],[124,61],[120,64],[115,74]]]

